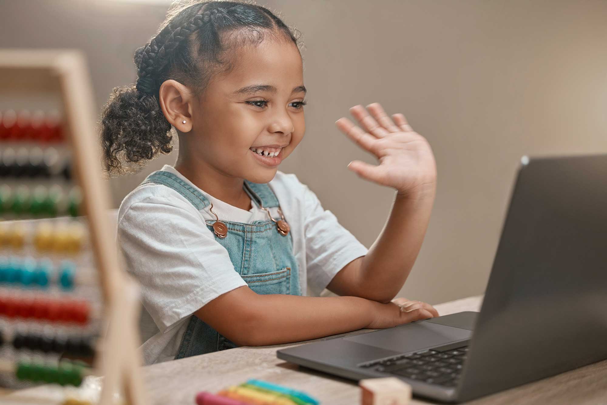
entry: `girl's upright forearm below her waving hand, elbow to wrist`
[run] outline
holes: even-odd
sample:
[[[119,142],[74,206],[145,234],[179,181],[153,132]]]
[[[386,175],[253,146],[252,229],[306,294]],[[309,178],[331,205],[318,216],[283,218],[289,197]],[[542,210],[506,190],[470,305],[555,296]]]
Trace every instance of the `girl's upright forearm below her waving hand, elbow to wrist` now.
[[[401,290],[426,235],[435,194],[435,185],[416,194],[396,193],[390,216],[359,269],[365,298],[388,302]]]

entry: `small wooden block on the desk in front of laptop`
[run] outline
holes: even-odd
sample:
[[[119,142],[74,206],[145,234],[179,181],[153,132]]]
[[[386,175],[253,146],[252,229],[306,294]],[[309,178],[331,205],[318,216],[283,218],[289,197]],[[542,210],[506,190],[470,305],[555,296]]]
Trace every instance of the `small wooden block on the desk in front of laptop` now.
[[[361,405],[409,405],[411,386],[396,377],[367,378],[358,383]]]

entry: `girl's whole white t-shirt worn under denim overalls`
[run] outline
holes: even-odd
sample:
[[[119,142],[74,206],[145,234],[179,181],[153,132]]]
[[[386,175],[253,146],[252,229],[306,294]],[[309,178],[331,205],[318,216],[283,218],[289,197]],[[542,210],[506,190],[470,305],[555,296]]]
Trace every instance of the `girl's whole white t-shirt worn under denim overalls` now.
[[[220,220],[270,219],[254,202],[249,211],[237,208],[210,196],[172,166],[161,170],[202,192]],[[291,226],[302,294],[319,294],[339,270],[367,254],[367,248],[322,208],[296,175],[278,171],[268,185]],[[127,271],[141,288],[145,364],[173,359],[189,316],[221,294],[246,285],[228,251],[205,225],[205,220],[215,220],[209,208],[199,211],[174,189],[155,183],[138,186],[120,205],[117,242]],[[280,217],[277,208],[269,209],[274,219]]]

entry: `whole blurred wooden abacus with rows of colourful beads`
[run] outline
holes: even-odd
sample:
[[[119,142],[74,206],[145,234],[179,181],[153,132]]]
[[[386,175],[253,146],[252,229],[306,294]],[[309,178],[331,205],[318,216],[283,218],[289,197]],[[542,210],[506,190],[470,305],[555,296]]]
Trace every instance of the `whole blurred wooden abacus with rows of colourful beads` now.
[[[103,375],[98,403],[121,394],[144,404],[138,290],[107,222],[84,57],[0,50],[0,91],[59,101],[0,109],[0,387],[47,383],[61,392]]]

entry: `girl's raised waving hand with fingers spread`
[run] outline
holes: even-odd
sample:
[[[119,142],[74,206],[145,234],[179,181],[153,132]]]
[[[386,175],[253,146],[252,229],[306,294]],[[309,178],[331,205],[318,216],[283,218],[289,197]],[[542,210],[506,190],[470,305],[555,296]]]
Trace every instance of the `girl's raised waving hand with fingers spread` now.
[[[348,169],[371,182],[393,187],[403,196],[433,196],[436,163],[426,138],[413,131],[402,114],[393,114],[390,118],[379,103],[369,104],[367,109],[360,104],[350,108],[350,114],[362,129],[345,117],[335,124],[348,138],[378,158],[379,165],[354,160]]]

